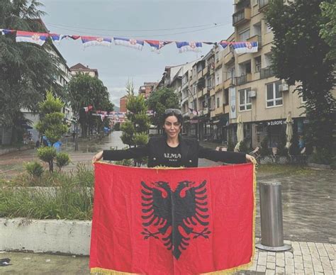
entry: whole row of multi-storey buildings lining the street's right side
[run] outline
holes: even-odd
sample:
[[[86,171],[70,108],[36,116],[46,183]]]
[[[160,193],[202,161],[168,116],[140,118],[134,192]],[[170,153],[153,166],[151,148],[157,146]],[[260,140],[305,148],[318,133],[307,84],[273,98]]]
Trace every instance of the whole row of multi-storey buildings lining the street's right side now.
[[[183,65],[166,67],[159,82],[172,86],[181,99],[186,123],[184,133],[228,144],[237,142],[237,118],[242,117],[248,147],[257,147],[267,138],[276,147],[285,135],[286,118],[293,118],[293,131],[304,133],[308,123],[304,101],[271,70],[273,33],[267,26],[266,0],[234,0],[235,31],[229,42],[258,41],[253,53],[236,54],[233,47],[215,45],[204,57]],[[192,112],[191,112],[192,111]]]

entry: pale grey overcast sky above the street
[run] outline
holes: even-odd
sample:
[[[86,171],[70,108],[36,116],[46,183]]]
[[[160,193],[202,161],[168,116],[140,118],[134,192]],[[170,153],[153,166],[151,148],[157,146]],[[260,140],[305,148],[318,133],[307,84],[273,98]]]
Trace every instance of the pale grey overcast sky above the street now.
[[[69,35],[121,36],[152,40],[220,41],[234,31],[233,0],[40,0],[47,15],[45,25],[53,33]],[[215,25],[215,23],[217,25]],[[162,30],[164,29],[164,30]],[[82,63],[98,69],[111,101],[119,106],[125,83],[133,79],[135,89],[143,82],[159,81],[167,65],[177,65],[206,55],[179,53],[175,44],[157,55],[149,45],[142,51],[129,47],[86,47],[81,40],[62,40],[58,50],[71,67]]]

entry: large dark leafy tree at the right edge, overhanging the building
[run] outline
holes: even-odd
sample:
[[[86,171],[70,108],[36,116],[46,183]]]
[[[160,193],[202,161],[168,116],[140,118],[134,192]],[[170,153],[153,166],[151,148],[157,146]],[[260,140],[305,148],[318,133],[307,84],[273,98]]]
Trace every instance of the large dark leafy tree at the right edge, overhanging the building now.
[[[272,67],[276,77],[290,85],[299,83],[296,91],[306,101],[306,145],[324,152],[331,162],[335,155],[335,99],[331,94],[335,78],[333,62],[326,58],[330,45],[320,37],[320,24],[325,20],[320,4],[318,0],[288,5],[282,0],[270,1],[267,22],[274,32]]]

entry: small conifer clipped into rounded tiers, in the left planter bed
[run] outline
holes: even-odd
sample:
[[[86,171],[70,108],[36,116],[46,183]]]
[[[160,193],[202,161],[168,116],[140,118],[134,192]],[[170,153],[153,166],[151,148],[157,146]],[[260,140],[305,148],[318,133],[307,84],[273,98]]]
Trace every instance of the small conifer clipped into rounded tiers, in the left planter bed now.
[[[36,129],[50,141],[53,145],[57,140],[62,138],[62,135],[67,133],[67,125],[63,122],[65,117],[64,113],[61,113],[62,108],[65,106],[60,98],[56,98],[52,95],[51,91],[47,91],[45,101],[40,102],[39,111],[42,118],[36,125]],[[62,153],[60,159],[65,159],[65,153]],[[49,164],[49,171],[54,170],[54,159],[57,157],[57,153],[54,147],[40,147],[38,148],[38,157]],[[64,163],[64,162],[62,162]],[[62,165],[64,166],[64,165]]]

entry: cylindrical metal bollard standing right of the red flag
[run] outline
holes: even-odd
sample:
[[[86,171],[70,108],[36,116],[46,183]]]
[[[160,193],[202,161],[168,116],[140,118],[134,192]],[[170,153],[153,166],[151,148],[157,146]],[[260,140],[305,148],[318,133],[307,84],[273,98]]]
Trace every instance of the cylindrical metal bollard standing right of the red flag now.
[[[262,239],[256,247],[274,252],[291,249],[291,245],[284,244],[281,184],[260,182],[259,196]]]

